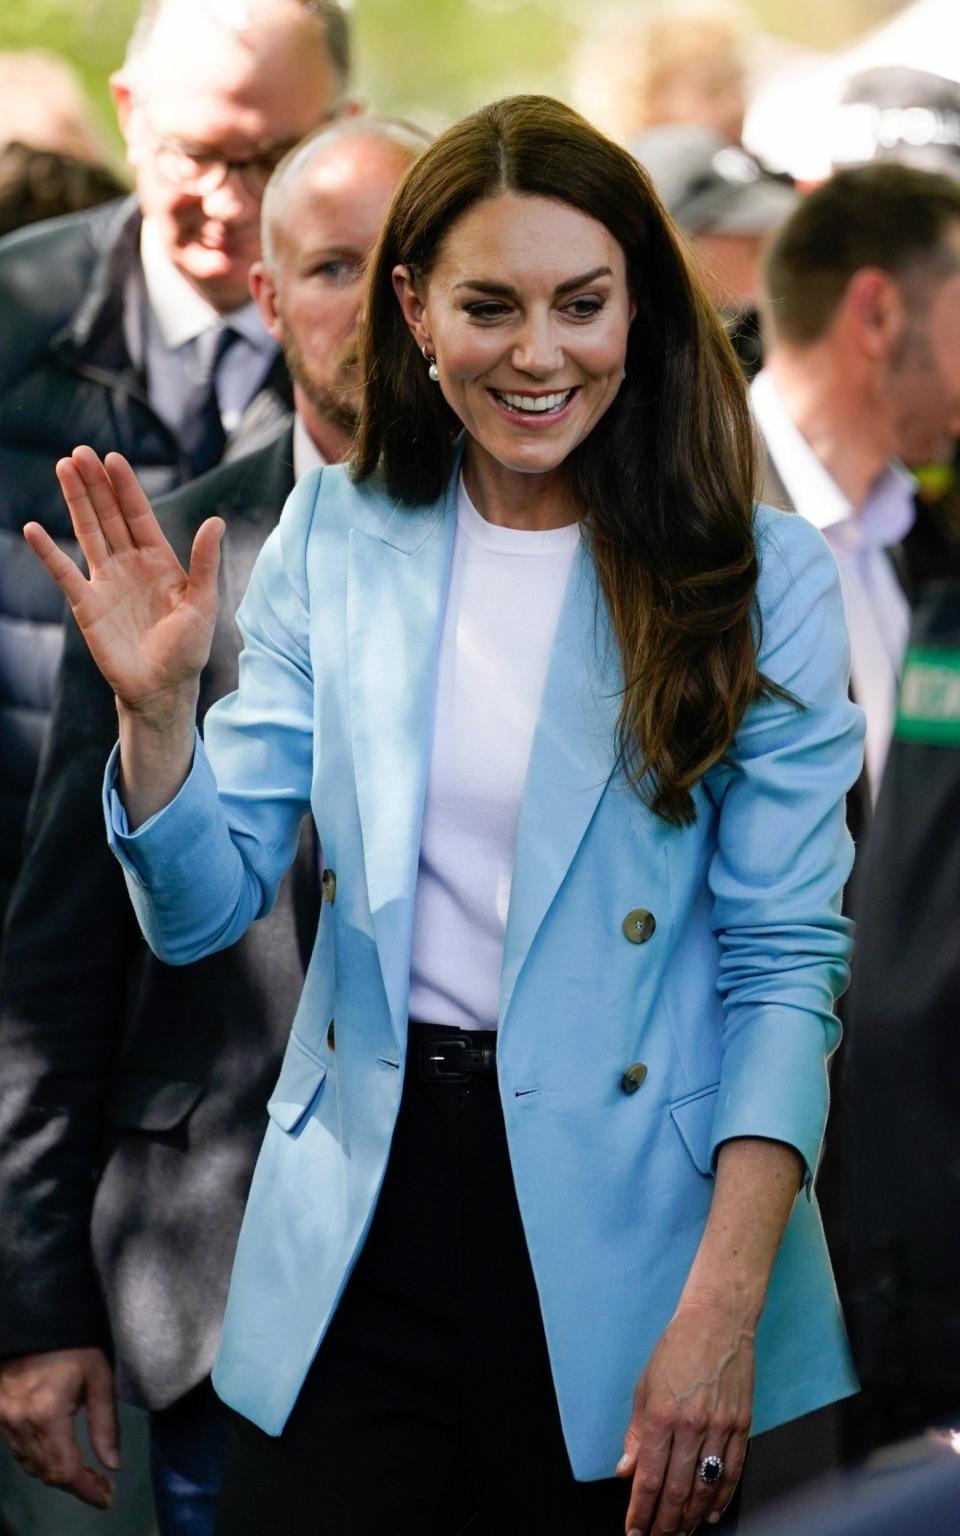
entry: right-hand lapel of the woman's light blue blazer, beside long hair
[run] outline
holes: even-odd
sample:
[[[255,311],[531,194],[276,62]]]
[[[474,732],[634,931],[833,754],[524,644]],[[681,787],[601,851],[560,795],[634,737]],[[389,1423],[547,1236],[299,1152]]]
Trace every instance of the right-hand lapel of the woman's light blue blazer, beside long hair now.
[[[547,668],[521,800],[499,1021],[616,766],[624,677],[585,541],[576,553]]]

